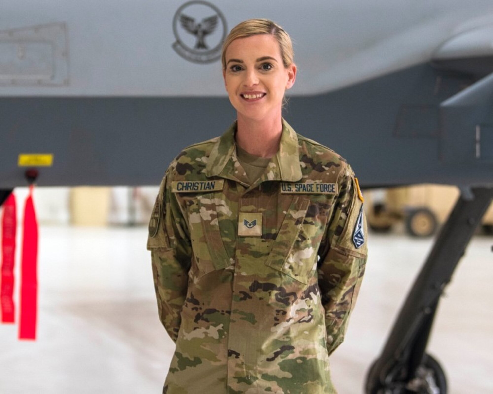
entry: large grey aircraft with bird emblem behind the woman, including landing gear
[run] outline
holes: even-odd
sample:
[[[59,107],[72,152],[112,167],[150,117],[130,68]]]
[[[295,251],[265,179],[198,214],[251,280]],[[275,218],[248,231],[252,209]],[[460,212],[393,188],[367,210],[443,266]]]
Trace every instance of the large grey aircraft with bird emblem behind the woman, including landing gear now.
[[[446,393],[425,348],[493,196],[491,0],[4,0],[0,204],[28,169],[39,186],[158,184],[180,148],[234,119],[220,46],[255,17],[294,39],[286,120],[348,159],[363,188],[460,188],[366,382]]]

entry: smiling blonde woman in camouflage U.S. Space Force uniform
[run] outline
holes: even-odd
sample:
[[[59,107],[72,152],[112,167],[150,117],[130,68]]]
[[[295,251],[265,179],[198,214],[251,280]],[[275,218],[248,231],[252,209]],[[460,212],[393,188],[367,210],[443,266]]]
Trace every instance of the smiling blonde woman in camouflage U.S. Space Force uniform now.
[[[296,66],[281,27],[240,23],[222,67],[238,119],[171,163],[149,224],[159,317],[176,342],[163,393],[336,393],[329,355],[367,255],[357,179],[282,119]]]

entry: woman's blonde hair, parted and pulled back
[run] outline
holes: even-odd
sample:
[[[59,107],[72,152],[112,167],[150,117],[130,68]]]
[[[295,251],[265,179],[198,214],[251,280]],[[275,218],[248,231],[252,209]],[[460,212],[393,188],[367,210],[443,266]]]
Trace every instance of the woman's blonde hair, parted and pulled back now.
[[[293,44],[289,34],[281,26],[269,19],[248,19],[231,29],[222,44],[221,63],[223,70],[226,69],[226,49],[228,49],[228,46],[237,38],[246,38],[256,34],[273,35],[279,43],[284,67],[287,68],[293,64]]]

